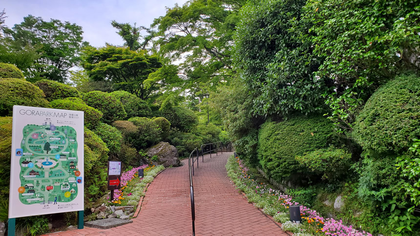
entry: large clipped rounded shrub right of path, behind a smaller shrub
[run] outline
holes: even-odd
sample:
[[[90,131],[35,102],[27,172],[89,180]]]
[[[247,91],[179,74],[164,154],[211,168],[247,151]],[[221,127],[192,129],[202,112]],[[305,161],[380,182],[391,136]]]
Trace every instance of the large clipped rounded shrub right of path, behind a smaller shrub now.
[[[294,157],[326,148],[332,142],[333,126],[322,117],[266,121],[258,134],[258,158],[267,174],[280,180],[299,170]]]

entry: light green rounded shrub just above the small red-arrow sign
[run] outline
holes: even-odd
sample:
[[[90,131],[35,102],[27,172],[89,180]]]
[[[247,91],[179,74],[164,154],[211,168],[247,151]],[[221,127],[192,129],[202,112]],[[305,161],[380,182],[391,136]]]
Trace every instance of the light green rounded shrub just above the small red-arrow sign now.
[[[120,152],[123,136],[117,128],[109,124],[99,123],[94,132],[106,143],[110,153],[117,154]]]

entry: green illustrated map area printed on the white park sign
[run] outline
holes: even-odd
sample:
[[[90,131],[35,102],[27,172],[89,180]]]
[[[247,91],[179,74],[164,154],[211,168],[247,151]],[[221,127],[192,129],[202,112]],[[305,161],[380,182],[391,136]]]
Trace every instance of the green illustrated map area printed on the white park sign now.
[[[70,202],[82,182],[76,131],[70,126],[28,124],[22,130],[19,199],[23,204]],[[82,147],[83,148],[83,147]]]

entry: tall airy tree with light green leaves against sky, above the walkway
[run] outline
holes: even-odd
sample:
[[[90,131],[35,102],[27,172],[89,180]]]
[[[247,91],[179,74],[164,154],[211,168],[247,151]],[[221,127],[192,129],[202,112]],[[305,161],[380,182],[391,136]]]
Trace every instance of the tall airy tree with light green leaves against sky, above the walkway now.
[[[231,45],[237,11],[243,0],[192,0],[175,4],[165,16],[154,20],[160,53],[184,60],[180,67],[189,87],[215,87],[235,73],[231,67]],[[203,84],[204,83],[204,84]]]

